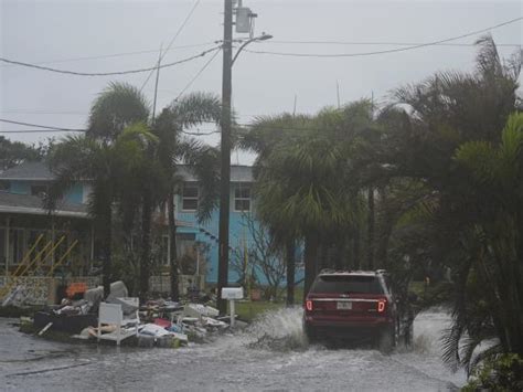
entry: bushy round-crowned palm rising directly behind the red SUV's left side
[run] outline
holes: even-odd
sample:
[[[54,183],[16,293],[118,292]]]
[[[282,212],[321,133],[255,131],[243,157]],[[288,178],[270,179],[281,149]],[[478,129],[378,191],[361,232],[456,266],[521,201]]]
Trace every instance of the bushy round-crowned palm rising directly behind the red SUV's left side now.
[[[345,152],[321,135],[308,135],[276,146],[257,177],[262,221],[305,240],[306,294],[318,272],[322,233],[354,222],[357,195],[339,178],[345,171]]]

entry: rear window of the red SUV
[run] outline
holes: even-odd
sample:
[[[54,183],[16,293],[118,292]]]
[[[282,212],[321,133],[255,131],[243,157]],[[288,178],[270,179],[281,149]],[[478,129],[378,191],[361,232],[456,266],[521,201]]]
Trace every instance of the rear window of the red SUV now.
[[[376,276],[354,275],[318,276],[310,293],[384,294]]]

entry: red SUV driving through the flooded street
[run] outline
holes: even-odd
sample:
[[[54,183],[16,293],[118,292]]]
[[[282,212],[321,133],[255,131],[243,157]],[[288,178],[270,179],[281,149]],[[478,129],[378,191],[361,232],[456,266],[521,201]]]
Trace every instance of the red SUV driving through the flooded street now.
[[[397,310],[384,271],[322,271],[306,297],[303,328],[310,341],[348,338],[395,346]]]

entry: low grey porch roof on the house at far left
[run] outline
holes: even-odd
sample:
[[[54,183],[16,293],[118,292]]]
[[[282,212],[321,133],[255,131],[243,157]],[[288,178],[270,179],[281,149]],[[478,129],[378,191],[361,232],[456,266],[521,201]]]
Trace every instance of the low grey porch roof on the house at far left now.
[[[31,194],[17,194],[0,192],[0,212],[47,215],[50,212],[43,208],[42,199]],[[88,218],[87,205],[61,202],[52,215]]]

